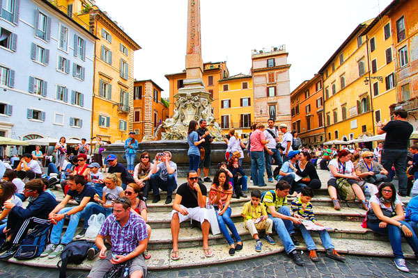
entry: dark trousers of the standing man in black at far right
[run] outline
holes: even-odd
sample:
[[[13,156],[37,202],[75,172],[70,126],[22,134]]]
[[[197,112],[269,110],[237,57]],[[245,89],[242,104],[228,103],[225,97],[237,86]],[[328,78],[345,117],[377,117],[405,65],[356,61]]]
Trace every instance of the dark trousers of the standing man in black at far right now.
[[[398,190],[401,195],[406,195],[408,186],[408,177],[406,175],[406,158],[408,150],[406,149],[383,149],[381,164],[389,170],[395,165],[396,176],[398,176]]]

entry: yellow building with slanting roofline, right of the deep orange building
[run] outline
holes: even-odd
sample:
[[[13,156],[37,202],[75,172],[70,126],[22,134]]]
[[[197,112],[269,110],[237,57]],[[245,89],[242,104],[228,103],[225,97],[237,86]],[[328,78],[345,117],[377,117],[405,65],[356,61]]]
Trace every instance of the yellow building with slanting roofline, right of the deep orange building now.
[[[374,135],[367,44],[362,36],[370,24],[359,24],[320,69],[323,74],[325,136],[327,140],[350,140]]]

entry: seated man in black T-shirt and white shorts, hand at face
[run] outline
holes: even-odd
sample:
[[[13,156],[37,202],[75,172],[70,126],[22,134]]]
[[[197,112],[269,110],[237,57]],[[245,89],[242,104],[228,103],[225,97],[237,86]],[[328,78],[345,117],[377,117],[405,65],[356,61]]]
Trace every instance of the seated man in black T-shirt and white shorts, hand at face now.
[[[171,235],[173,236],[173,250],[170,258],[173,261],[180,259],[178,254],[178,231],[180,223],[185,220],[196,220],[201,223],[203,236],[203,251],[206,257],[213,256],[208,245],[209,237],[209,217],[206,209],[206,186],[198,183],[196,171],[187,172],[187,183],[178,187],[176,198],[173,202],[173,211],[171,212]]]

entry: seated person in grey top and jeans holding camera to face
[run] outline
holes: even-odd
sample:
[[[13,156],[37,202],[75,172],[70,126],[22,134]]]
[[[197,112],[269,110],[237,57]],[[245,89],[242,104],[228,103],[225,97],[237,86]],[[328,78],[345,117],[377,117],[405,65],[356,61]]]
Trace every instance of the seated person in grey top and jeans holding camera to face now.
[[[177,188],[177,164],[171,161],[171,152],[157,153],[151,165],[150,186],[153,188],[153,203],[160,201],[160,189],[167,191],[166,204],[173,201],[171,195]]]

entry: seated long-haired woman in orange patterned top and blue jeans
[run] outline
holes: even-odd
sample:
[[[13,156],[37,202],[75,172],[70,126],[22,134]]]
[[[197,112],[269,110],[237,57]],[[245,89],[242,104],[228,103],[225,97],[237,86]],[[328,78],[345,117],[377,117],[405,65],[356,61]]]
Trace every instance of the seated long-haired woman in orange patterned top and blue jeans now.
[[[242,240],[238,234],[237,228],[233,221],[231,220],[231,203],[232,197],[232,185],[226,181],[226,171],[219,169],[213,177],[213,184],[210,186],[209,200],[215,206],[215,211],[217,211],[217,220],[219,224],[219,229],[222,231],[226,241],[229,244],[229,255],[233,256],[236,251],[242,250]],[[232,233],[232,236],[235,238],[236,245],[229,234],[228,229]]]

